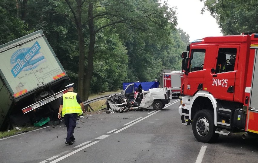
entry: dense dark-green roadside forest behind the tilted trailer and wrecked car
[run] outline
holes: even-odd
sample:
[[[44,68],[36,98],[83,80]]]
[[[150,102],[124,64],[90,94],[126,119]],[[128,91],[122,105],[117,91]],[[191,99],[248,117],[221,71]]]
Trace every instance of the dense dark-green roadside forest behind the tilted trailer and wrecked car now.
[[[180,70],[189,35],[161,0],[3,0],[0,44],[43,30],[83,100]]]

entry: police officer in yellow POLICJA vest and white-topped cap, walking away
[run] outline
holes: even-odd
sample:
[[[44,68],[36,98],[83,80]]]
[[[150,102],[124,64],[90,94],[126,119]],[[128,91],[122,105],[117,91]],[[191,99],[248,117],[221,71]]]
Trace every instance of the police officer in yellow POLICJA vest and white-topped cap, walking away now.
[[[67,137],[65,139],[65,144],[72,145],[74,144],[74,128],[76,127],[76,118],[77,115],[81,115],[82,112],[85,112],[84,105],[81,102],[79,95],[74,91],[74,83],[69,84],[67,87],[68,92],[63,94],[61,105],[59,107],[58,118],[65,118],[65,125],[67,129]]]

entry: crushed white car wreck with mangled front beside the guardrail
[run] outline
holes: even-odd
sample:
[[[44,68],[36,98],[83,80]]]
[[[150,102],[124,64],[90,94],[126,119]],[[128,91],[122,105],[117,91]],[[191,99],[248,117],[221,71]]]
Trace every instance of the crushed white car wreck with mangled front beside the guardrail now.
[[[167,88],[144,90],[142,83],[129,84],[121,94],[109,96],[106,101],[107,109],[114,112],[127,112],[146,109],[152,105],[154,110],[161,110],[169,103],[170,92]],[[138,90],[138,93],[133,96],[135,90]]]

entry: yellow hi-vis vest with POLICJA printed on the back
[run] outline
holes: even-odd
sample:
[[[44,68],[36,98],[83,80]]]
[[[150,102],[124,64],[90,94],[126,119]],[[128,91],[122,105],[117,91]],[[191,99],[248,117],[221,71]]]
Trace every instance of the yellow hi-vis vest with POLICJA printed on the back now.
[[[63,109],[62,117],[65,114],[77,113],[78,115],[82,114],[81,105],[78,104],[76,100],[77,93],[67,92],[63,94]]]

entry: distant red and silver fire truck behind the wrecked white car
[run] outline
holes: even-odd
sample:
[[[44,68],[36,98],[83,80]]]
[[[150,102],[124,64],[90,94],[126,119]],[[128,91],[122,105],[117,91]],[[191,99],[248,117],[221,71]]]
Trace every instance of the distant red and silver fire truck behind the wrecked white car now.
[[[167,90],[170,90],[170,97],[179,97],[183,74],[184,73],[182,71],[171,71],[171,69],[162,69],[160,71],[160,87],[167,87]]]

